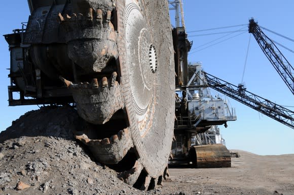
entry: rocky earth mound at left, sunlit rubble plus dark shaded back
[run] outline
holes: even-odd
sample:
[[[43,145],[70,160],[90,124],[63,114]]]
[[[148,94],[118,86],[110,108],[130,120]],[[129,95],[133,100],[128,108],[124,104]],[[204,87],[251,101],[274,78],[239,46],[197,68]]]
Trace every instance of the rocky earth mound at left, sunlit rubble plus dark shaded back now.
[[[43,107],[0,134],[0,194],[159,194],[140,191],[93,161],[73,138],[79,118],[71,107]]]

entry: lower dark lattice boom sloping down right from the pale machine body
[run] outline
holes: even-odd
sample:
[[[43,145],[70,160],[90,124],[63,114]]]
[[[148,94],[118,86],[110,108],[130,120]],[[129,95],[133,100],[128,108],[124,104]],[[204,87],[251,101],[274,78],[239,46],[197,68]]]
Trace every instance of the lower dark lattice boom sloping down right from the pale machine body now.
[[[206,72],[203,73],[209,87],[294,129],[293,111],[247,91],[244,85],[236,86]]]

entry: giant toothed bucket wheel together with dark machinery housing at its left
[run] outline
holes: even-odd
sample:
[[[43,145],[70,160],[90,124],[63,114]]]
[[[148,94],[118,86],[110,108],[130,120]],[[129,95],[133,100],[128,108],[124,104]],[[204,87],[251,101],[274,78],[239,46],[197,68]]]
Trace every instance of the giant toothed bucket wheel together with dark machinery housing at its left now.
[[[9,105],[75,104],[83,119],[75,136],[94,158],[126,183],[154,188],[168,164],[174,125],[167,1],[28,5],[28,23],[4,35],[11,52]]]

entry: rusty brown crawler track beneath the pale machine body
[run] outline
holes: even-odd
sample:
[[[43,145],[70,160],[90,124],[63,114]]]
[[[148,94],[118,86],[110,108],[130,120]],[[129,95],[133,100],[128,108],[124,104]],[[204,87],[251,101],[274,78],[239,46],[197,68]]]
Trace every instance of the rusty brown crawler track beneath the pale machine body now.
[[[223,144],[197,145],[190,150],[190,157],[197,168],[231,167],[231,154]]]

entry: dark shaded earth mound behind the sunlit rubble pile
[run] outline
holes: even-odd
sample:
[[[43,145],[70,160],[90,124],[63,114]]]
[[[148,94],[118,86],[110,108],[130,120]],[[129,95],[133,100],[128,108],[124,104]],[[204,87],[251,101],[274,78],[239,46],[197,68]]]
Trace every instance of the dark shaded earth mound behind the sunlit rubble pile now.
[[[21,136],[54,136],[73,140],[72,132],[82,122],[72,107],[42,107],[21,116],[0,133],[0,142]]]

